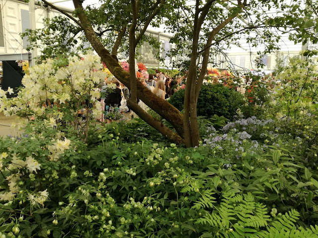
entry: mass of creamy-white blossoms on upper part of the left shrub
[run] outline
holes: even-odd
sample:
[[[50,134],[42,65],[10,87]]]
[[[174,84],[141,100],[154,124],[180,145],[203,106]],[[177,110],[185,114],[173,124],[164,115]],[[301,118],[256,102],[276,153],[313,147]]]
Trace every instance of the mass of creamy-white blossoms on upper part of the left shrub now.
[[[67,104],[72,98],[80,100],[82,96],[88,95],[94,102],[91,110],[97,118],[101,105],[96,100],[100,97],[96,86],[107,76],[106,72],[99,70],[100,58],[87,55],[85,58],[70,57],[68,60],[69,65],[60,68],[56,68],[54,60],[50,59],[30,67],[29,74],[22,79],[24,87],[17,93],[17,97],[7,98],[7,93],[13,93],[11,88],[7,91],[0,89],[0,112],[3,111],[5,116],[14,114],[36,118],[44,114],[47,106],[54,104],[61,107],[61,104]],[[77,112],[74,110],[73,113],[75,115]],[[58,116],[61,119],[63,114]],[[54,125],[53,121],[51,123]]]

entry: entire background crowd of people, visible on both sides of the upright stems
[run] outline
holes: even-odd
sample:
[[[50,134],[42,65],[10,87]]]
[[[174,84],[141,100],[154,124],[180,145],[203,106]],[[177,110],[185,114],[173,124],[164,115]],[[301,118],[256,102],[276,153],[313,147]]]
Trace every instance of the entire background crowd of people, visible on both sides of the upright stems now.
[[[183,82],[186,81],[186,76],[176,76],[175,79],[173,79],[170,75],[159,72],[155,75],[149,74],[147,79],[142,75],[137,78],[137,80],[159,98],[167,100],[175,92],[185,87]],[[240,78],[235,78],[227,70],[224,70],[220,75],[207,74],[203,83],[222,84],[232,90],[239,91],[241,94],[245,94],[246,86],[252,86],[253,84],[248,75],[242,75]],[[107,91],[109,90],[109,85],[116,86],[113,86],[110,91]],[[130,99],[130,91],[114,76],[106,78],[105,83],[100,83],[99,88],[101,90],[102,110],[104,110],[103,116],[101,116],[100,119],[101,121],[104,121],[105,119],[107,119],[107,122],[111,122],[112,119],[118,120],[122,117],[122,112],[130,112],[127,107],[127,100]],[[139,99],[138,104],[146,111],[149,109]]]

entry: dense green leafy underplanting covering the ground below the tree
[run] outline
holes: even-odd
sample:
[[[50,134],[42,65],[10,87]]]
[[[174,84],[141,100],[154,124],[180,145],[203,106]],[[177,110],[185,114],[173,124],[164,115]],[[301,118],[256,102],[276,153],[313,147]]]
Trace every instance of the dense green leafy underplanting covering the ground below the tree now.
[[[25,128],[27,136],[2,138],[1,194],[13,185],[4,178],[20,177],[13,200],[0,202],[0,232],[11,236],[17,227],[22,237],[316,236],[317,228],[305,223],[318,220],[318,174],[288,146],[261,148],[234,130],[221,142],[212,130],[210,141],[196,149],[153,143],[142,134],[127,143],[127,126],[96,127],[88,144],[69,137],[68,148],[53,160],[52,146],[61,135],[40,121]],[[236,151],[236,143],[244,151]],[[28,156],[41,170],[29,170]],[[42,191],[48,197],[41,200]]]

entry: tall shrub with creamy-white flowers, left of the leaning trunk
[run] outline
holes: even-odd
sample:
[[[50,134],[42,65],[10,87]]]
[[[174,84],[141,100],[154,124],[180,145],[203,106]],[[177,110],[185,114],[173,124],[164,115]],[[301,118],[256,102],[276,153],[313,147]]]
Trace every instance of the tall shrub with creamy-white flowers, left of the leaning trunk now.
[[[12,89],[0,89],[0,112],[27,121],[44,120],[58,130],[73,127],[79,135],[85,132],[87,139],[89,121],[101,117],[97,85],[107,74],[100,68],[100,58],[95,55],[48,59],[29,68],[16,97],[6,97]]]

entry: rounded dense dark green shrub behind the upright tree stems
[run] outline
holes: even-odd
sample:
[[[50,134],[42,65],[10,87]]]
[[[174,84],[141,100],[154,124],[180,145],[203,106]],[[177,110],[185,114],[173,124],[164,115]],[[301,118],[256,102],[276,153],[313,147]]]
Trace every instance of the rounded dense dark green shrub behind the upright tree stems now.
[[[184,90],[181,89],[172,95],[169,103],[182,111],[183,101]],[[232,120],[243,104],[243,96],[239,92],[221,84],[204,84],[198,98],[197,115],[212,117],[216,114]]]

